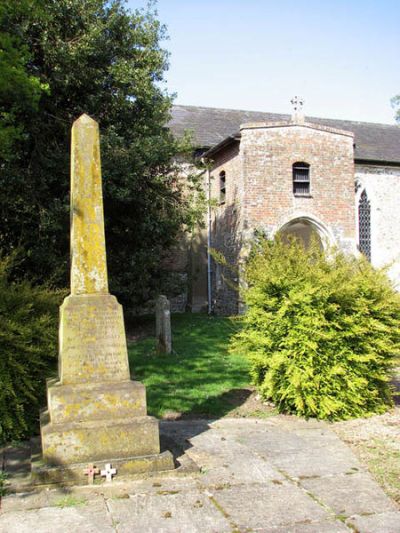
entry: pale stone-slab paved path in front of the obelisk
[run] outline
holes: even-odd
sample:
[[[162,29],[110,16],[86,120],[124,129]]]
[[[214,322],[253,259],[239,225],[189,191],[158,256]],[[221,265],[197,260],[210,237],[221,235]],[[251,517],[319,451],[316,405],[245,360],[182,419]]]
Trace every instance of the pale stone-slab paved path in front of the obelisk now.
[[[398,508],[326,424],[276,416],[161,429],[200,473],[10,495],[1,533],[400,533]]]

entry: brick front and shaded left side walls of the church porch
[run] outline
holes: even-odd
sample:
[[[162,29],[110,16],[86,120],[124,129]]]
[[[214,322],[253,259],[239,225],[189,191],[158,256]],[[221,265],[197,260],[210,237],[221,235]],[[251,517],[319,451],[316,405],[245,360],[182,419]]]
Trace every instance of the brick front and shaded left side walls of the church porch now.
[[[219,174],[226,175],[226,201],[213,209],[212,246],[238,267],[254,230],[272,236],[286,223],[305,217],[326,228],[332,244],[356,249],[353,134],[293,122],[255,123],[241,127],[241,140],[215,154],[212,198],[219,200]],[[308,197],[293,194],[292,166],[310,165]],[[214,309],[239,310],[238,276],[213,267]]]

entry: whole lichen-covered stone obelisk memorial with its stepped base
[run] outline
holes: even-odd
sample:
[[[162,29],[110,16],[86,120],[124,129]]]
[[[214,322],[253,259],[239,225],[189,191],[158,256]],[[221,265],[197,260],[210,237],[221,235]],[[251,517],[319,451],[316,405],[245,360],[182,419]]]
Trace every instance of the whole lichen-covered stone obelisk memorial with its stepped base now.
[[[160,453],[158,421],[145,387],[130,380],[122,307],[108,292],[99,128],[72,126],[71,294],[60,309],[59,379],[41,416],[39,482],[84,482],[82,465],[112,463],[119,474],[173,468]]]

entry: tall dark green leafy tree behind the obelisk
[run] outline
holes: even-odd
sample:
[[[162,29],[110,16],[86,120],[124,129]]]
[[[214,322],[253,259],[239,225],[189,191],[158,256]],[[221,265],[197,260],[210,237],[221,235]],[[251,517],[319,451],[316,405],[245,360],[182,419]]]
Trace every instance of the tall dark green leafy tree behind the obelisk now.
[[[188,143],[165,127],[165,29],[151,5],[130,12],[120,0],[10,4],[0,0],[2,39],[7,27],[23,43],[25,80],[17,86],[21,94],[32,84],[32,106],[15,114],[14,157],[1,154],[0,248],[20,250],[14,276],[67,285],[70,128],[88,113],[101,131],[110,288],[123,303],[140,304],[161,278],[164,251],[201,211],[193,201],[200,184],[192,176],[184,186],[174,163]],[[8,96],[18,108],[18,91]]]

